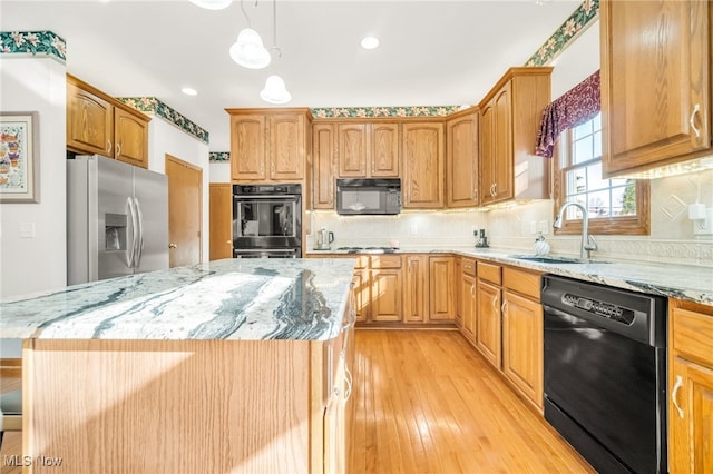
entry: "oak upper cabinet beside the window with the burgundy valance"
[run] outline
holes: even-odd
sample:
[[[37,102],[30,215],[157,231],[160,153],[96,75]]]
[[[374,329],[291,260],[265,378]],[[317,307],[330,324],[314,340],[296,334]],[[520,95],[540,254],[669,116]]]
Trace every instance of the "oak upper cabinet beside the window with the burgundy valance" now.
[[[549,197],[550,161],[535,156],[550,67],[510,68],[479,105],[480,204]]]

